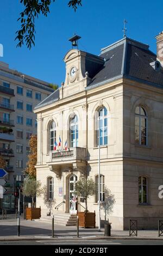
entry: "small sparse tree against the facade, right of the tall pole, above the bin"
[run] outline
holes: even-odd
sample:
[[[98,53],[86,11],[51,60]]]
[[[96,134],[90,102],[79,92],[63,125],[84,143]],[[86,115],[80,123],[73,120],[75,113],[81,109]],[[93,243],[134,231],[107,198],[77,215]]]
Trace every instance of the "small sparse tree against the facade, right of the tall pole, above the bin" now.
[[[106,215],[110,215],[113,212],[113,206],[116,203],[114,194],[111,193],[109,188],[104,186],[105,198],[104,202],[101,203],[101,209],[105,212],[105,221]]]

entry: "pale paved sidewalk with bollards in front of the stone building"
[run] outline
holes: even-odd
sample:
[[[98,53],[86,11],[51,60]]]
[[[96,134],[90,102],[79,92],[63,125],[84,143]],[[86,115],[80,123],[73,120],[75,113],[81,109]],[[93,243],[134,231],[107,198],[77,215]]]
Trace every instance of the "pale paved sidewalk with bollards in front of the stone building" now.
[[[158,237],[158,230],[138,230],[137,237],[129,236],[129,230],[112,230],[111,236],[104,236],[104,229],[101,231],[93,228],[79,228],[77,237],[76,226],[65,227],[54,225],[54,237],[52,238],[51,223],[21,220],[21,236],[17,236],[17,221],[0,220],[0,241],[16,240],[99,240],[99,239],[141,239],[141,240],[162,240]]]

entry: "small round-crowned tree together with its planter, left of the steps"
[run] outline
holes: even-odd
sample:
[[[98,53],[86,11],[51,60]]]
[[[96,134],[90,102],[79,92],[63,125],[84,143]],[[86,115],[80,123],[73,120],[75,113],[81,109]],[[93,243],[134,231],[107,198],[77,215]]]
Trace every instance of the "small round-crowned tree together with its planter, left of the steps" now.
[[[41,217],[41,208],[34,208],[34,198],[42,194],[41,182],[34,178],[26,178],[23,184],[23,194],[32,197],[32,207],[26,208],[26,220],[33,220]]]

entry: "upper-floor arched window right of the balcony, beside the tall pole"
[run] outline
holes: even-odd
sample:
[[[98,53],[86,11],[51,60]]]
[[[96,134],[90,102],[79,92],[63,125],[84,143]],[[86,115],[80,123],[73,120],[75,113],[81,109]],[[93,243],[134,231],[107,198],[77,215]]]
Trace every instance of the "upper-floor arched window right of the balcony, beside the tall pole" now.
[[[108,144],[108,118],[107,109],[101,108],[96,118],[96,146]],[[106,117],[106,118],[105,118]]]

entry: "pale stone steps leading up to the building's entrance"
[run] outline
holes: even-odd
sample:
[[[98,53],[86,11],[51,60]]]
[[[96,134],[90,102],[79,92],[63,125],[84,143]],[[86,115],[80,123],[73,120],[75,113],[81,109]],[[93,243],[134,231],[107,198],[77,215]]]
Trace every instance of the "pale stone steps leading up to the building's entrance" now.
[[[52,216],[42,216],[39,220],[40,222],[52,223]],[[63,226],[74,226],[77,224],[76,214],[54,214],[54,224]]]

